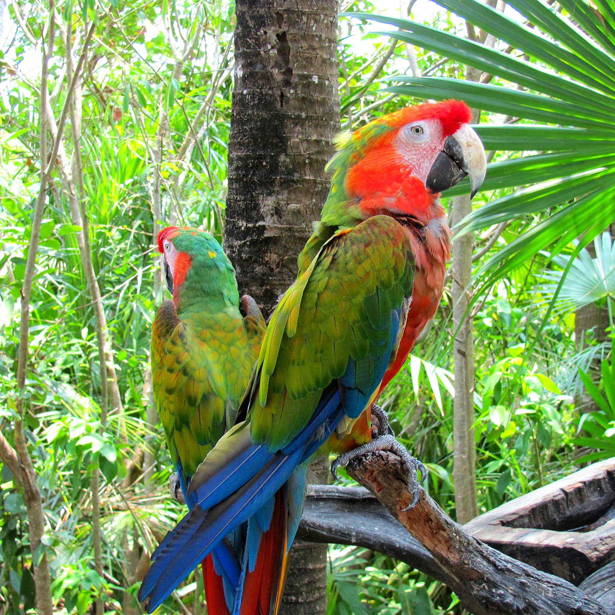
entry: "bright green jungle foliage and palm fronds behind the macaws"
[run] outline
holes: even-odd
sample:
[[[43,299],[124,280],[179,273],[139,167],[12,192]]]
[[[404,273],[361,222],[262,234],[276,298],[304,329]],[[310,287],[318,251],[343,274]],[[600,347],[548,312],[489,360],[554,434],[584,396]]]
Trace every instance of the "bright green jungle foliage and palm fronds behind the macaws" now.
[[[592,252],[582,251],[615,218],[613,6],[440,4],[417,12],[421,23],[399,21],[388,9],[380,21],[399,26],[392,39],[374,33],[381,25],[341,18],[342,124],[353,129],[424,95],[454,95],[483,109],[479,130],[492,163],[466,230],[478,231],[471,316],[485,511],[615,454],[613,239],[605,232]],[[364,16],[381,8],[365,0],[343,7]],[[102,420],[96,315],[68,196],[75,178],[54,170],[23,391],[47,522],[42,544],[58,613],[86,613],[98,597],[109,613],[138,613],[146,549],[180,513],[166,495],[170,463],[151,413],[149,330],[162,299],[153,236],[164,221],[223,237],[233,6],[68,0],[51,8],[12,2],[8,12],[0,57],[0,428],[10,440],[20,288],[41,170],[41,39],[53,15],[55,46],[47,52],[56,119],[68,97],[69,58],[94,25],[82,73],[82,132],[67,133],[63,147],[66,156],[81,157],[82,202],[122,404]],[[565,50],[556,54],[554,46]],[[457,81],[466,64],[488,71],[490,84]],[[587,304],[608,318],[575,338],[576,315]],[[434,326],[384,399],[395,432],[432,470],[432,496],[454,515],[451,307],[445,292]],[[97,467],[103,574],[95,569],[92,533]],[[16,615],[34,606],[36,561],[23,497],[6,466],[0,482],[0,613]],[[167,611],[200,613],[199,583],[190,577]],[[328,592],[330,613],[459,611],[442,585],[354,547],[331,546]]]

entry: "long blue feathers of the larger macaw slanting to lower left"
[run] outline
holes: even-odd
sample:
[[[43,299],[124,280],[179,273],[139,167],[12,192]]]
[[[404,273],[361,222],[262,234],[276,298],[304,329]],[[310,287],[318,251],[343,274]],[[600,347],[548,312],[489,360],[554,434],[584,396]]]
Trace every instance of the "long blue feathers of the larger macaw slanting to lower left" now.
[[[265,445],[252,443],[245,423],[232,427],[218,440],[188,487],[188,494],[196,494],[198,504],[167,533],[151,556],[152,564],[138,592],[138,600],[146,601],[148,613],[152,613],[212,549],[216,549],[218,555],[218,546],[224,536],[253,515],[261,515],[261,509],[271,510],[272,515],[268,502],[274,502],[276,492],[329,436],[341,414],[338,386],[333,383],[323,392],[311,421],[282,450],[271,453]],[[314,437],[315,433],[319,437]],[[264,523],[264,513],[262,517],[261,528],[266,531],[269,522]],[[293,518],[293,525],[295,523],[298,524],[298,519]],[[295,531],[291,532],[289,525],[287,536],[294,537]]]

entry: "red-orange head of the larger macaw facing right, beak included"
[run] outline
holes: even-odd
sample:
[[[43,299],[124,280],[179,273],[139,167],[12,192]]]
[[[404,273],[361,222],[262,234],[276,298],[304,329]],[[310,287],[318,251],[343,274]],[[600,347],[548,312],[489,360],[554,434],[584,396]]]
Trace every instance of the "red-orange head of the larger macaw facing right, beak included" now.
[[[421,217],[440,192],[464,177],[474,196],[485,178],[486,159],[469,121],[466,103],[445,100],[405,107],[339,135],[339,151],[327,167],[333,179],[323,221],[328,213],[339,216],[340,207],[358,218]]]

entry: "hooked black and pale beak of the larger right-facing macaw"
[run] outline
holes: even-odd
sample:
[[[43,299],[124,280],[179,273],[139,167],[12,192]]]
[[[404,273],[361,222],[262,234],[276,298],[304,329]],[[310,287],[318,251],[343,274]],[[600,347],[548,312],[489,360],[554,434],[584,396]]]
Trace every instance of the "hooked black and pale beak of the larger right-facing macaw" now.
[[[464,124],[456,133],[446,137],[444,148],[429,170],[425,185],[432,192],[442,192],[467,175],[471,199],[485,179],[486,168],[485,148],[477,133]]]

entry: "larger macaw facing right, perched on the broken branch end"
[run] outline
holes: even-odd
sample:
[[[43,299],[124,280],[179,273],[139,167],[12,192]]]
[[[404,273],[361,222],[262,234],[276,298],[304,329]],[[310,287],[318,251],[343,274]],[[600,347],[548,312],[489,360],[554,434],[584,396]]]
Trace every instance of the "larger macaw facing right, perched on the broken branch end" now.
[[[364,410],[404,336],[415,335],[405,333],[415,284],[437,287],[432,269],[443,269],[448,255],[437,193],[466,175],[474,193],[485,176],[485,151],[469,121],[461,101],[428,103],[336,143],[321,220],[269,321],[239,422],[200,464],[188,487],[196,505],[152,555],[139,592],[148,613],[246,521],[233,614],[277,613],[306,466],[323,447],[345,446],[357,423],[368,430]],[[352,453],[390,450],[391,438]],[[421,464],[405,455],[408,489],[418,494]]]

